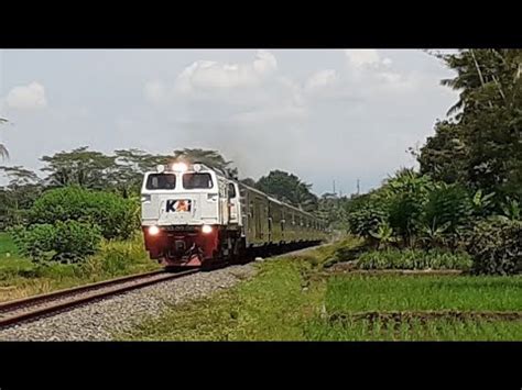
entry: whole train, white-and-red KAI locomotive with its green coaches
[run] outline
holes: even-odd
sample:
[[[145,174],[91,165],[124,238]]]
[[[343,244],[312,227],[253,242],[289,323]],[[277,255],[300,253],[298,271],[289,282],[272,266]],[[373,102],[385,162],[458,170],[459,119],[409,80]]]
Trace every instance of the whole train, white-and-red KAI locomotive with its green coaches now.
[[[166,268],[242,263],[319,244],[328,232],[308,212],[186,161],[144,174],[141,225],[150,258]]]

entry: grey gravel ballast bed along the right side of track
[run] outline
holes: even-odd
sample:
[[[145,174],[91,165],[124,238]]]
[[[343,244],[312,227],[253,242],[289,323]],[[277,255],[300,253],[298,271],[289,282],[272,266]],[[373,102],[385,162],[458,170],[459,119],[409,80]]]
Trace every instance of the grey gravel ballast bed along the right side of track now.
[[[253,276],[248,264],[198,272],[144,287],[52,316],[0,330],[0,341],[110,341],[145,319],[157,317],[167,304],[207,297]]]

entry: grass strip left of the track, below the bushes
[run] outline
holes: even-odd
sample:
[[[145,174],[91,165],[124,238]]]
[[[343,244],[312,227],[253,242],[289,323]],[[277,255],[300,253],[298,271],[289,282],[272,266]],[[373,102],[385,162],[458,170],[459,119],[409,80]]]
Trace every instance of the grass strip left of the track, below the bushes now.
[[[18,254],[9,234],[0,233],[0,302],[157,268],[140,234],[127,242],[104,243],[81,265],[37,265]]]

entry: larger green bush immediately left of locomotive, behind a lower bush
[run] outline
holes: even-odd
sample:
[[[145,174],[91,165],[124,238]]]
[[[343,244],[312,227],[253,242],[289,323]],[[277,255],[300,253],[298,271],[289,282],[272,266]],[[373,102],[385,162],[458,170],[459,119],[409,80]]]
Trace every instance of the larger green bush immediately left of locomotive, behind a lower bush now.
[[[78,221],[100,226],[105,238],[128,238],[139,227],[135,199],[111,192],[67,187],[46,191],[29,212],[29,224]]]

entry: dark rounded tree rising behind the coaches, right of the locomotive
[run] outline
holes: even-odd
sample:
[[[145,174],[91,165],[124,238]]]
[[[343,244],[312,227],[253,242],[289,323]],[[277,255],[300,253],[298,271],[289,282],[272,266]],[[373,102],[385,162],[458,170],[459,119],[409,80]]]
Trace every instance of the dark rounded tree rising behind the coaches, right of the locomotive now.
[[[255,187],[282,202],[301,208],[305,211],[316,211],[318,207],[317,196],[311,192],[312,185],[282,170],[272,170],[268,176],[261,177]]]

